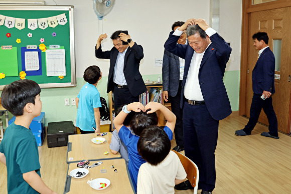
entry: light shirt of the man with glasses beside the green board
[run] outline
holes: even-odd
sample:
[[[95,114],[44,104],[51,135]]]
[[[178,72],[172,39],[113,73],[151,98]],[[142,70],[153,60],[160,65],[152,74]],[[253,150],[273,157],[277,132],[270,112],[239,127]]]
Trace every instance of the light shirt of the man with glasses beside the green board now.
[[[128,47],[123,53],[118,52],[117,59],[113,71],[113,82],[120,85],[127,85],[123,69],[124,69],[124,57]]]

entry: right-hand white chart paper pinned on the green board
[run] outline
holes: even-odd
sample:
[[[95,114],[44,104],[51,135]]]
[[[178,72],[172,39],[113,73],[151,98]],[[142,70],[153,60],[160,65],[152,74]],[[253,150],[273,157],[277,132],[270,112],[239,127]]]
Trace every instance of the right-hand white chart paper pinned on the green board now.
[[[65,49],[46,50],[47,76],[65,76]]]

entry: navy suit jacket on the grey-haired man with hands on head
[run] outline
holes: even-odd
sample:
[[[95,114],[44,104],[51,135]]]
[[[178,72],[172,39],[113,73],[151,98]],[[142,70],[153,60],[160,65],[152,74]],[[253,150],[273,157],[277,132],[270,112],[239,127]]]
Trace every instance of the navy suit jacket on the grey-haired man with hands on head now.
[[[178,39],[179,36],[173,36],[173,32],[171,32],[164,46],[166,50],[185,59],[180,105],[182,108],[184,102],[184,86],[194,50],[189,44],[176,44]],[[212,35],[210,40],[212,43],[205,50],[198,79],[205,105],[210,115],[215,120],[222,120],[231,114],[230,102],[222,80],[231,48],[217,33]]]

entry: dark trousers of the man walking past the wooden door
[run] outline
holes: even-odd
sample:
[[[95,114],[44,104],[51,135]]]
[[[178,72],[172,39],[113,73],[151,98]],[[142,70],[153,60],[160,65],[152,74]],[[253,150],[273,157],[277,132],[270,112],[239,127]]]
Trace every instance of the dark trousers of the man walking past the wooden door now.
[[[251,105],[250,105],[250,116],[249,121],[244,127],[244,132],[246,134],[251,134],[254,126],[256,125],[261,110],[267,115],[268,122],[269,122],[269,134],[272,136],[278,136],[278,122],[277,117],[272,105],[272,97],[262,100],[261,94],[253,94]]]

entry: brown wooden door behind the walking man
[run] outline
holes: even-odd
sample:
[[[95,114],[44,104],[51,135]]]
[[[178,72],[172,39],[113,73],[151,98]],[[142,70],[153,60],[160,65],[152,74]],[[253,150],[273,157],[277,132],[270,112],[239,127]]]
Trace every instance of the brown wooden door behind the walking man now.
[[[278,130],[288,133],[288,117],[290,104],[290,17],[291,7],[273,10],[253,12],[250,14],[249,26],[249,47],[248,47],[248,74],[247,74],[247,98],[246,109],[249,117],[249,109],[252,100],[252,70],[258,59],[258,50],[253,46],[252,35],[258,31],[266,32],[269,37],[268,46],[273,51],[273,41],[281,40],[280,68],[275,74],[280,79],[275,79],[275,93],[272,95],[273,107],[278,120]],[[274,51],[273,51],[274,52]],[[268,120],[263,111],[259,116],[259,122],[268,125]]]

